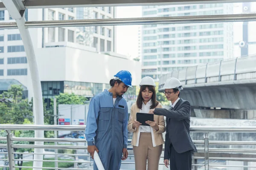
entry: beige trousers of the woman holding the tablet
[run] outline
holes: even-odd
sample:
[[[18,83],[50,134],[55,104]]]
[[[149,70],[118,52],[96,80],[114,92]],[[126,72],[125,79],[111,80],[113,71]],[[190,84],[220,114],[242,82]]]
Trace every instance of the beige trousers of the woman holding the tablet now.
[[[153,147],[151,133],[140,133],[139,146],[133,146],[135,170],[158,170],[163,144]]]

